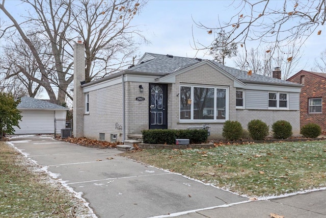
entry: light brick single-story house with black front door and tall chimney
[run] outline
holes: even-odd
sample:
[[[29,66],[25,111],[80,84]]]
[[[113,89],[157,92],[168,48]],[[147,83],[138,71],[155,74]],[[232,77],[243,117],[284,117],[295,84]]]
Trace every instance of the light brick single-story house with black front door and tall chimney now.
[[[145,53],[134,66],[85,83],[84,44],[74,45],[75,137],[124,141],[144,129],[209,126],[222,138],[226,120],[291,123],[300,133],[301,85],[210,60]],[[280,78],[280,71],[275,75]]]

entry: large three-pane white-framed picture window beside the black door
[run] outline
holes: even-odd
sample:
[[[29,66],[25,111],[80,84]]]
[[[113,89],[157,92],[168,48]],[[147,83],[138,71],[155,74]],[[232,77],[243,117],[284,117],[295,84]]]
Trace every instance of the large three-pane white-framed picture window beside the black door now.
[[[229,89],[197,85],[180,86],[180,121],[203,122],[228,119]]]

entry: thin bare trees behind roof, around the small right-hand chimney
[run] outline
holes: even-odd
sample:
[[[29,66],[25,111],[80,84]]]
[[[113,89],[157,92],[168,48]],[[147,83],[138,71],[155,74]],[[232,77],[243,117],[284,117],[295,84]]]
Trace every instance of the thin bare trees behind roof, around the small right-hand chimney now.
[[[293,57],[288,60],[287,57]],[[274,54],[267,50],[251,49],[248,54],[239,55],[234,63],[242,70],[252,70],[254,74],[260,74],[267,77],[273,77],[275,67],[280,67],[282,79],[286,80],[300,69],[297,68],[302,54],[295,45],[281,47]]]

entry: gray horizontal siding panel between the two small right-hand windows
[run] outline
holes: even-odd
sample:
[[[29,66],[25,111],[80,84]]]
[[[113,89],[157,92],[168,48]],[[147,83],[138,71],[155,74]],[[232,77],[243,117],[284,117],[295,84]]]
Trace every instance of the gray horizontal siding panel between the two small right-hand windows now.
[[[267,91],[246,90],[246,109],[268,109]]]

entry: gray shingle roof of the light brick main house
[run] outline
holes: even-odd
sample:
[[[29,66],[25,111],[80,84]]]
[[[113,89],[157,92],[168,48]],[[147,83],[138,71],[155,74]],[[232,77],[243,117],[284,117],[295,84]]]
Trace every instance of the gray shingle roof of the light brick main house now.
[[[200,59],[195,58],[185,58],[185,57],[168,57],[168,55],[159,55],[153,53],[145,53],[146,58],[143,57],[144,60],[147,60],[142,63],[138,63],[137,65],[129,68],[133,72],[147,72],[151,74],[158,74],[158,75],[167,75],[173,72],[182,70],[189,66],[192,66],[196,63],[199,63]],[[152,56],[152,58],[149,58]],[[211,63],[215,64],[216,66],[222,68],[230,75],[235,77],[236,79],[240,80],[243,83],[267,83],[267,84],[278,84],[278,85],[288,85],[288,86],[298,86],[300,84],[292,83],[289,81],[284,81],[276,78],[266,77],[263,75],[252,74],[251,76],[248,75],[247,71],[239,70],[232,67],[227,67],[222,64],[219,64],[215,61],[210,61]]]

